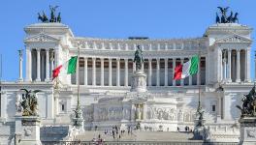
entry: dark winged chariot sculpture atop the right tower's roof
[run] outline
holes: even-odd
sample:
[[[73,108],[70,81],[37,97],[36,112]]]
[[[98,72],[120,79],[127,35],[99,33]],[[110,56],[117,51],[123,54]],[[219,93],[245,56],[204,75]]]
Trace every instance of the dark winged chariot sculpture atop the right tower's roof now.
[[[218,13],[216,13],[216,23],[239,23],[239,13],[233,14],[233,12],[231,11],[230,15],[228,16],[227,13],[229,7],[218,7],[218,9],[220,10],[221,16],[219,16]]]

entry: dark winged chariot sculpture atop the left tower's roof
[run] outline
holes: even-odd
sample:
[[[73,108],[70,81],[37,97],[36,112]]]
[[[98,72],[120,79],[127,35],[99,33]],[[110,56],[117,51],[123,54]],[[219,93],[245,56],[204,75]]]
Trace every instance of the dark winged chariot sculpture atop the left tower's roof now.
[[[43,11],[43,14],[38,13],[38,20],[41,20],[41,22],[61,22],[61,16],[60,13],[56,15],[56,9],[58,6],[52,7],[49,5],[49,11],[50,11],[50,16],[48,18],[47,14]]]

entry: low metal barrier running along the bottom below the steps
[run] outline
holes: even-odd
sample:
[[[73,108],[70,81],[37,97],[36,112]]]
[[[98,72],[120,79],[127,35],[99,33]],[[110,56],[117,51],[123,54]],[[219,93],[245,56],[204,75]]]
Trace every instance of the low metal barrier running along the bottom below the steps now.
[[[43,145],[238,145],[237,142],[191,141],[42,141]]]

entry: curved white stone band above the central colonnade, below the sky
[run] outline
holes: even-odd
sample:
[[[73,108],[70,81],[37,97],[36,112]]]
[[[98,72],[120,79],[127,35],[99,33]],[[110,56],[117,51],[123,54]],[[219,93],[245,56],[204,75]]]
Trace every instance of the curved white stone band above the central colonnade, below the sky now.
[[[104,40],[104,39],[76,39],[85,49],[106,50],[135,50],[140,44],[143,50],[195,50],[200,46],[206,49],[204,39],[180,40]],[[75,43],[74,43],[75,45]]]

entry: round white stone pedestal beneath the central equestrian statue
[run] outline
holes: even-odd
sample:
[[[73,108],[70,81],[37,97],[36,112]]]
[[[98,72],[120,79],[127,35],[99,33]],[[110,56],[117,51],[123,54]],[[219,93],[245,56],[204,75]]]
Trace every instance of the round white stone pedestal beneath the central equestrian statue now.
[[[146,92],[146,74],[138,70],[132,76],[131,92]]]

